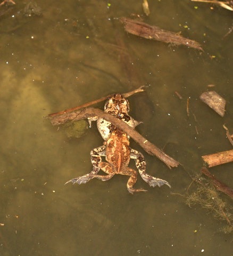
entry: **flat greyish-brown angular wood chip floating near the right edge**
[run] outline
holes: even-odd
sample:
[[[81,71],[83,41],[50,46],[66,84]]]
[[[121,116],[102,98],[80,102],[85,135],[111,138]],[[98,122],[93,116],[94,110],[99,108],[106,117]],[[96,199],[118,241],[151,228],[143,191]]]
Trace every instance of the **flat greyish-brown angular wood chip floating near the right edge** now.
[[[226,100],[224,100],[217,92],[203,92],[199,98],[221,117],[224,116]]]

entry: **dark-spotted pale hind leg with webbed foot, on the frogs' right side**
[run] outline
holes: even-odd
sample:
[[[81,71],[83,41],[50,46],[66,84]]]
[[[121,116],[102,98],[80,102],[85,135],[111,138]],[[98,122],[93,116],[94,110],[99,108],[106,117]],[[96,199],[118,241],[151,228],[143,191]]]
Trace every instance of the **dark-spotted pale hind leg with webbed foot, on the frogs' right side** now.
[[[144,181],[149,184],[151,187],[159,186],[161,187],[162,185],[167,185],[169,188],[171,188],[170,184],[168,181],[155,178],[149,174],[146,173],[146,162],[144,159],[144,156],[142,153],[135,149],[130,149],[130,158],[135,159],[136,167]]]

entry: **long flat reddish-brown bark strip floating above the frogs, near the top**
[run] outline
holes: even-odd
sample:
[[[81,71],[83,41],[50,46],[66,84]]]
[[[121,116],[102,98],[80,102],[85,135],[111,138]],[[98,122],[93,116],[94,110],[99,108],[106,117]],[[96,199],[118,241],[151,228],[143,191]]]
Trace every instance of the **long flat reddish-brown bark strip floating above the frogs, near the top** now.
[[[133,35],[144,37],[146,39],[153,39],[156,41],[171,43],[176,45],[185,45],[203,51],[201,45],[194,40],[187,39],[181,35],[163,30],[156,26],[150,26],[144,22],[132,20],[122,17],[120,21],[124,24],[124,29]]]

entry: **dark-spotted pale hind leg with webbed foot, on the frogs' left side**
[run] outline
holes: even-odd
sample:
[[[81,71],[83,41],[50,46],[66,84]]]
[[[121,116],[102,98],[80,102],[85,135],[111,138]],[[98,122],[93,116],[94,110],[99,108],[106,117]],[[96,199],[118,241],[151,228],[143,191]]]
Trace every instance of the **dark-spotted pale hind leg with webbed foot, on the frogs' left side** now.
[[[93,170],[90,173],[87,173],[80,177],[71,179],[71,180],[65,182],[65,184],[72,182],[73,184],[78,183],[80,185],[82,183],[87,183],[89,180],[95,178],[96,174],[100,170],[99,163],[102,162],[101,156],[105,156],[105,155],[106,155],[105,154],[105,146],[101,146],[101,147],[94,148],[93,150],[91,150],[90,151],[90,161],[93,165]]]

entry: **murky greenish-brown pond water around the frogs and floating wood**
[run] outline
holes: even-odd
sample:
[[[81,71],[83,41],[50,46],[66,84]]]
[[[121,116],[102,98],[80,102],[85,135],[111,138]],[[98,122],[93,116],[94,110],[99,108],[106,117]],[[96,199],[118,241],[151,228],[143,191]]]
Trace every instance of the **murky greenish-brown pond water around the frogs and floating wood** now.
[[[232,34],[223,38],[232,13],[149,1],[144,21],[182,31],[203,45],[199,53],[124,33],[118,18],[142,14],[142,1],[109,1],[109,7],[107,1],[38,1],[40,17],[24,17],[25,3],[15,2],[0,18],[1,255],[233,255],[232,236],[219,231],[224,221],[171,194],[185,194],[190,185],[182,167],[169,170],[144,153],[148,173],[172,188],[149,188],[138,179],[148,192],[133,196],[121,175],[64,186],[90,172],[89,152],[102,139],[94,126],[69,140],[43,118],[148,85],[130,98],[131,115],[144,122],[138,130],[189,173],[199,173],[202,155],[231,149],[222,125],[232,133]],[[227,101],[223,118],[199,100],[210,84]],[[211,172],[233,187],[232,164]]]

